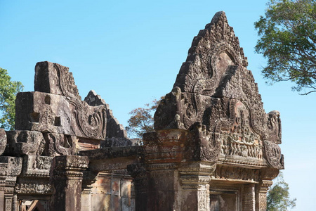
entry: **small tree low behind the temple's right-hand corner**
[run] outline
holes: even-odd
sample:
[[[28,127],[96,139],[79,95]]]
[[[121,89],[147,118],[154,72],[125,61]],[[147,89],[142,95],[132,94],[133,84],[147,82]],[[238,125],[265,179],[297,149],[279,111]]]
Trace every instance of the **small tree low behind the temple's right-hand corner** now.
[[[268,191],[267,211],[287,211],[296,206],[296,198],[290,199],[289,184],[283,179],[282,172],[275,179],[275,184]]]

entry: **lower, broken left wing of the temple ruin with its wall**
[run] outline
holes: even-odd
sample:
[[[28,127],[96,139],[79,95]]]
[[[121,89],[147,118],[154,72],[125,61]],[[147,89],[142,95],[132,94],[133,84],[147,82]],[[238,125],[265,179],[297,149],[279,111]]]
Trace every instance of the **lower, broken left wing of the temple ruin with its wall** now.
[[[0,210],[133,210],[126,166],[137,153],[100,146],[135,143],[105,101],[95,91],[81,101],[72,73],[56,63],[37,63],[34,89],[16,98],[15,130],[0,129]],[[78,155],[88,150],[99,157]],[[106,156],[123,159],[118,167]]]

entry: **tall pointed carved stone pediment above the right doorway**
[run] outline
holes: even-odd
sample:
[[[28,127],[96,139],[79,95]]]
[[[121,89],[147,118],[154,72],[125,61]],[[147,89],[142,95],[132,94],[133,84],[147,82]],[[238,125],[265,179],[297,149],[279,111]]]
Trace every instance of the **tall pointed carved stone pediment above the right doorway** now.
[[[258,165],[266,165],[268,160],[272,167],[282,168],[277,146],[281,143],[279,113],[267,115],[263,110],[258,85],[247,64],[225,13],[216,13],[193,39],[173,90],[154,114],[154,129],[192,131],[200,125],[197,131],[204,132],[197,134],[204,138],[199,139],[209,143],[204,146],[211,146],[206,151],[220,148],[213,158],[249,158]]]

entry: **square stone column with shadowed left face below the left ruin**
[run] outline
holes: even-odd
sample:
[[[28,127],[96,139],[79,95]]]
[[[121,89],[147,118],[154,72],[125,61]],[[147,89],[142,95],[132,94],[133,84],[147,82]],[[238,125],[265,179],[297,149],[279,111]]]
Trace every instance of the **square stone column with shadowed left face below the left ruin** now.
[[[88,162],[86,156],[64,155],[53,158],[51,210],[81,210],[83,171],[88,168]]]

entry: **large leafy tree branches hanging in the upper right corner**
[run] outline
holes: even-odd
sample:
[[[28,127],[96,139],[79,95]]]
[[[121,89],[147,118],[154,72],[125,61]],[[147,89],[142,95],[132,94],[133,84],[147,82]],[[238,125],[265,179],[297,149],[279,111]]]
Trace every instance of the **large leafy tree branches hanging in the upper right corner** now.
[[[316,1],[270,0],[254,25],[256,53],[268,59],[264,78],[294,82],[292,89],[303,94],[316,91]]]

